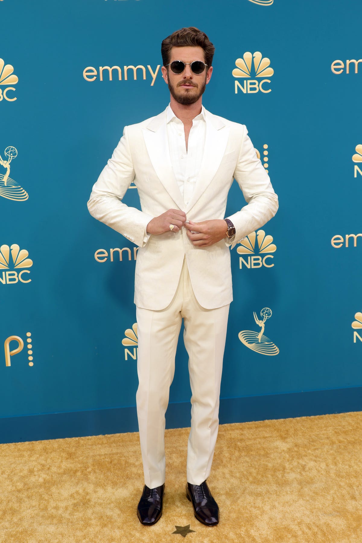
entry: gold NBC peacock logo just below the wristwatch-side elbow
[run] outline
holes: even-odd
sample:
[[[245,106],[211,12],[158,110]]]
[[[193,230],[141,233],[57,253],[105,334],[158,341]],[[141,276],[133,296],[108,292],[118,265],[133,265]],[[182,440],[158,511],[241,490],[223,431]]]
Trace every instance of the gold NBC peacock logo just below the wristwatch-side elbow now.
[[[277,246],[273,243],[272,236],[266,236],[264,230],[251,232],[246,238],[239,241],[240,247],[237,248],[239,255],[239,268],[272,268],[274,258],[271,252],[277,250]]]

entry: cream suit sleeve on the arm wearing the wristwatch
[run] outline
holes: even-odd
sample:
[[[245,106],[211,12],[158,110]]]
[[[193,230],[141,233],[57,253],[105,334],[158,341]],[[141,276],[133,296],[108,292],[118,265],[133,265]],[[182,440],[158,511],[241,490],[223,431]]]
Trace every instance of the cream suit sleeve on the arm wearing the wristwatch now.
[[[233,241],[228,243],[231,248],[248,234],[261,228],[274,217],[278,209],[278,197],[271,186],[269,175],[256,155],[245,126],[234,179],[243,191],[247,205],[227,217],[236,229]]]

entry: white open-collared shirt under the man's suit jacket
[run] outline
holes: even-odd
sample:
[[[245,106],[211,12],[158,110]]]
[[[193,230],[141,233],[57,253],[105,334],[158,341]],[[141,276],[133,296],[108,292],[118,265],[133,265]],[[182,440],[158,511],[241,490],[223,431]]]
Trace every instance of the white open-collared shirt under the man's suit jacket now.
[[[170,104],[167,106],[166,118],[171,164],[177,185],[179,185],[183,200],[187,205],[198,181],[202,156],[204,156],[205,109],[204,106],[201,106],[201,113],[192,121],[187,149],[183,123],[176,117]]]

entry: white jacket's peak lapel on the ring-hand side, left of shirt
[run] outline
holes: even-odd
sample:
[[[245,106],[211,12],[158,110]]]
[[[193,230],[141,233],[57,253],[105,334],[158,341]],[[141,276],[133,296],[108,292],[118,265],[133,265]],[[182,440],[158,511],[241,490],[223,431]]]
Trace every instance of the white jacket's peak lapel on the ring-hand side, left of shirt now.
[[[144,128],[142,131],[148,156],[158,179],[160,179],[175,204],[181,210],[184,210],[185,202],[183,201],[179,185],[177,185],[170,160],[166,111],[154,117],[147,128]]]

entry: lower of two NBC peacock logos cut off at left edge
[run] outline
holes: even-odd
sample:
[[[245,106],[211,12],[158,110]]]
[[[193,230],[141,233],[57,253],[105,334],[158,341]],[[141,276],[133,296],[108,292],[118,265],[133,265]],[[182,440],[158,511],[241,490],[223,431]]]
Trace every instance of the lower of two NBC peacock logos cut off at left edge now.
[[[0,283],[3,285],[14,285],[18,281],[30,283],[28,268],[33,266],[33,261],[28,256],[28,251],[20,249],[16,243],[12,244],[11,247],[2,245],[0,247]],[[19,271],[20,269],[21,271]]]

